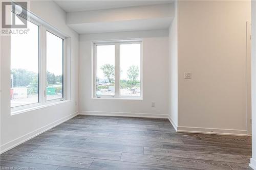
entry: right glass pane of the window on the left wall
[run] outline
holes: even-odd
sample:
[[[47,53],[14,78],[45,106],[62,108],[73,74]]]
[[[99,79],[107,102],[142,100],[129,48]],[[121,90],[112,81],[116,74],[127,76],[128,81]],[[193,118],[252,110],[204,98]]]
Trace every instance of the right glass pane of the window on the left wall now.
[[[63,39],[46,33],[46,100],[63,98]]]

